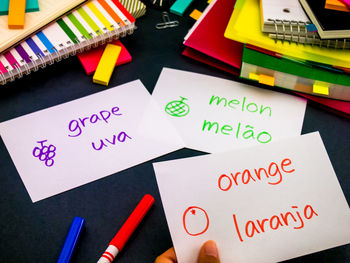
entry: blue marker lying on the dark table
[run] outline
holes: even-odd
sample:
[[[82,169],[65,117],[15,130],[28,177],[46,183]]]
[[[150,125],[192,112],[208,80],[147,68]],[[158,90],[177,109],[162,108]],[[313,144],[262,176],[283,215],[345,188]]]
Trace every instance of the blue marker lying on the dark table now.
[[[57,263],[68,263],[70,261],[84,223],[85,220],[83,218],[74,217]]]

